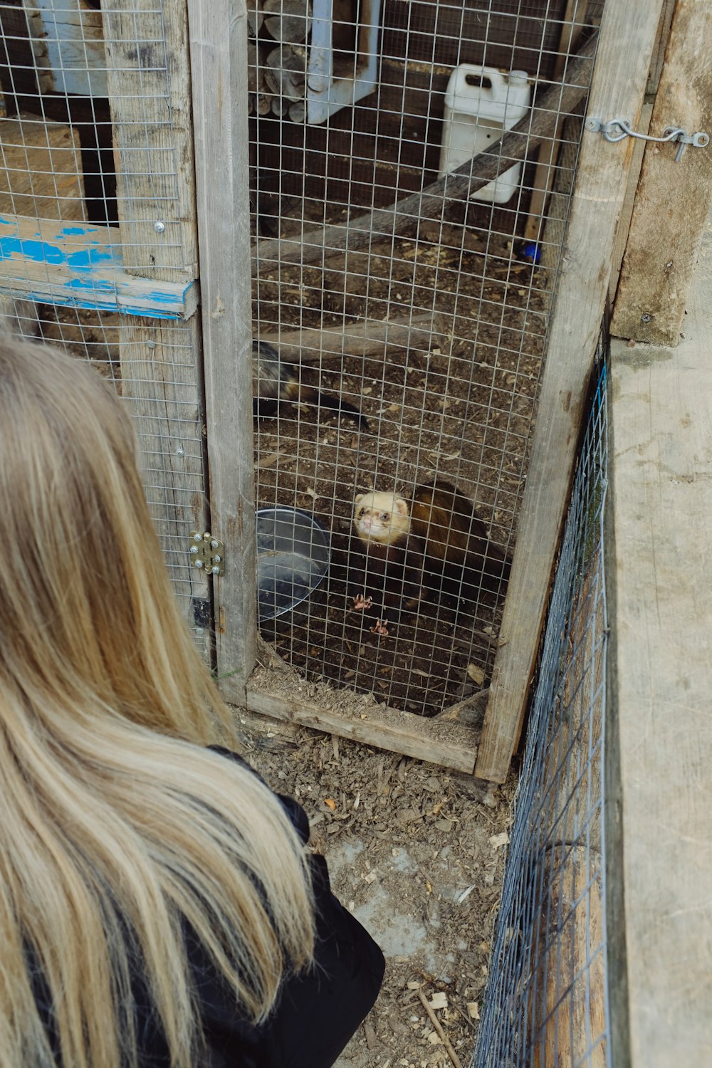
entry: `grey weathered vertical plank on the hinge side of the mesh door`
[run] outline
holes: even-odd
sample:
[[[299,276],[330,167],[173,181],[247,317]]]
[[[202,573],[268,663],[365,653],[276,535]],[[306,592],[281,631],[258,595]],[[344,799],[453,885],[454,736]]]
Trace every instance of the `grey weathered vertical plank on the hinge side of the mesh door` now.
[[[244,704],[255,662],[257,555],[252,438],[252,293],[244,3],[189,0],[218,676]],[[216,180],[219,175],[219,180]]]

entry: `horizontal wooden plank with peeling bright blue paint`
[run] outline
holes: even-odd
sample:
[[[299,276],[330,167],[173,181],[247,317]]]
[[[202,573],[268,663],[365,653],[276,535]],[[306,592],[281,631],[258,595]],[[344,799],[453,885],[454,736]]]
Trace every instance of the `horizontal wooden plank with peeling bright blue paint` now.
[[[112,226],[0,216],[0,290],[27,300],[159,319],[187,319],[196,282],[142,279],[124,268]]]

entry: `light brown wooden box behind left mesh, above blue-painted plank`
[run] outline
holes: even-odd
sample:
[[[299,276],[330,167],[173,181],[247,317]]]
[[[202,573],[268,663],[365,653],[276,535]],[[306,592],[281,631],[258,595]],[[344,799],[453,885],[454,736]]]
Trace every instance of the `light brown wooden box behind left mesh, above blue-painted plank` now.
[[[39,115],[0,120],[0,213],[86,218],[76,130]]]

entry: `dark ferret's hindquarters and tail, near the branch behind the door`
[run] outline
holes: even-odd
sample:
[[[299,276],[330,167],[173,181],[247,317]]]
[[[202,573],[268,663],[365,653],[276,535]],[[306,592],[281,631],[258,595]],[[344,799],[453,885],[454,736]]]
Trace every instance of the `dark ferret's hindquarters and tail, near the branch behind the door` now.
[[[299,373],[291,363],[281,359],[280,354],[266,341],[252,342],[252,411],[257,415],[279,415],[282,404],[308,402],[319,408],[338,411],[354,420],[362,429],[368,423],[358,408],[329,396],[299,380]]]

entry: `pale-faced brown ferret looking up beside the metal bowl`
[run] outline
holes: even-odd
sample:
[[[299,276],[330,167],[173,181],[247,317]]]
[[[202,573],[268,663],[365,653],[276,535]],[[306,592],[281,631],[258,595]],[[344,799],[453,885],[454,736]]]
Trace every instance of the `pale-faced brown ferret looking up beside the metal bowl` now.
[[[376,633],[387,634],[387,616],[398,606],[412,611],[442,593],[473,600],[482,588],[499,592],[509,578],[509,557],[489,540],[473,504],[446,482],[418,486],[410,507],[395,493],[359,493],[353,525],[366,554],[366,585],[382,590],[385,611],[371,627]],[[371,603],[365,590],[353,598],[355,609]]]

